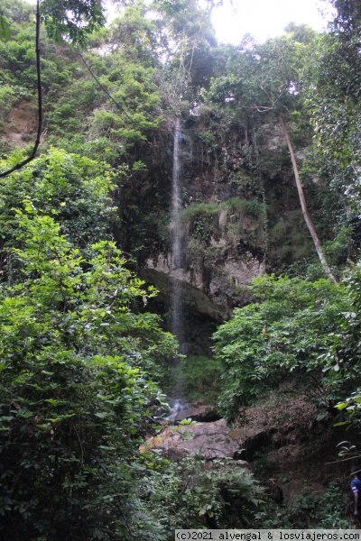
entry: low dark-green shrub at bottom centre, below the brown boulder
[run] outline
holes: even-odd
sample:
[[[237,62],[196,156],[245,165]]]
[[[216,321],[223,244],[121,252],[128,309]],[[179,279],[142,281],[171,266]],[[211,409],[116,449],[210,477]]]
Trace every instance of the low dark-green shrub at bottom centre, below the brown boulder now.
[[[153,472],[143,495],[169,539],[175,528],[251,527],[263,502],[259,482],[233,460],[209,464],[193,456]]]

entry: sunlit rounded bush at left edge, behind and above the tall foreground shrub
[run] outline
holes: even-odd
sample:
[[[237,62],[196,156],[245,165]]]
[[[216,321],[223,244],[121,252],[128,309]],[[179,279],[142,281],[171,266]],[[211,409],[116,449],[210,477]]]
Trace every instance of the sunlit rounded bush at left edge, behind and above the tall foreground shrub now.
[[[14,155],[14,162],[16,159]],[[24,201],[31,201],[43,214],[56,214],[62,233],[79,248],[110,238],[110,223],[116,214],[108,204],[111,187],[110,171],[104,164],[51,149],[0,180],[0,242],[20,245],[13,209],[23,209]]]

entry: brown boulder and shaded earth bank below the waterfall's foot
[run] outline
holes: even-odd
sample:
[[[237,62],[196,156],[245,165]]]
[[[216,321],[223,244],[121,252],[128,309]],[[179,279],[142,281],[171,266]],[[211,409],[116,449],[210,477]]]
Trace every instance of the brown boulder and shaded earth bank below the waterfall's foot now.
[[[195,423],[179,424],[182,418]],[[335,475],[347,475],[345,463],[333,463],[343,435],[328,417],[315,419],[314,408],[301,398],[247,408],[233,426],[215,408],[193,404],[173,409],[173,417],[142,449],[157,450],[173,462],[189,454],[209,463],[228,457],[258,479],[262,474],[260,481],[292,506],[302,490],[321,494]]]

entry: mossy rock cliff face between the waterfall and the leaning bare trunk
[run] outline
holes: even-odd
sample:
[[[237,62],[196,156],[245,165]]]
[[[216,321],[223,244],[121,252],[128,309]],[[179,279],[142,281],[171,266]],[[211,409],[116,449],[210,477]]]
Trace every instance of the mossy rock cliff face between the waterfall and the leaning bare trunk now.
[[[220,321],[250,302],[246,286],[255,277],[312,252],[279,127],[264,126],[260,148],[257,169],[245,159],[249,146],[242,133],[205,157],[204,145],[183,126],[180,261],[173,261],[169,222],[167,242],[153,250],[142,271],[166,304],[177,283],[188,310]],[[304,151],[299,153],[301,162]]]

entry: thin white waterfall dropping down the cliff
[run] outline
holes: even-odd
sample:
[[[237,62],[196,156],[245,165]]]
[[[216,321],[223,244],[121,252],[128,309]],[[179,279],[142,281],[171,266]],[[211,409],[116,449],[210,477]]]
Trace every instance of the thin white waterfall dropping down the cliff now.
[[[177,118],[174,127],[173,171],[171,179],[171,270],[173,277],[171,291],[171,333],[181,344],[183,339],[182,325],[182,283],[178,279],[181,274],[181,234],[180,234],[180,142],[181,124]],[[180,270],[180,271],[178,271]]]

